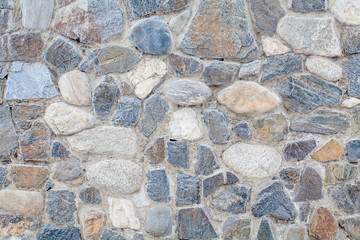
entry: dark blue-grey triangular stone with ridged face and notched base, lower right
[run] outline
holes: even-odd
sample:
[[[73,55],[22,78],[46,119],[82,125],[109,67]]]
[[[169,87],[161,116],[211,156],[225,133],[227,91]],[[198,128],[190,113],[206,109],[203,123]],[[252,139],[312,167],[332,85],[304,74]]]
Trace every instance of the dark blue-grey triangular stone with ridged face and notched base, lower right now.
[[[280,181],[272,181],[261,190],[251,207],[251,212],[255,217],[270,215],[279,220],[294,220],[296,217],[295,206]]]

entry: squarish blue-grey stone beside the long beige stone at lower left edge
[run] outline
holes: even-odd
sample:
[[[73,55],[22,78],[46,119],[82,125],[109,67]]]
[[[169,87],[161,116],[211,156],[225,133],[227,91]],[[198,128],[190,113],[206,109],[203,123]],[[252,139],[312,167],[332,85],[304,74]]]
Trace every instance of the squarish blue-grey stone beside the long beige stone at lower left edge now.
[[[46,196],[46,212],[51,221],[60,224],[74,223],[75,193],[69,190],[50,190]]]

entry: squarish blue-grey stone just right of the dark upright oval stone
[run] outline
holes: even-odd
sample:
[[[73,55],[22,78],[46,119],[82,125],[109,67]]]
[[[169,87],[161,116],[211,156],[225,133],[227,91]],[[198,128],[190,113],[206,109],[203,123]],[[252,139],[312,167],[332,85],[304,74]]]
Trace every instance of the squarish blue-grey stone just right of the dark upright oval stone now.
[[[137,124],[141,113],[141,100],[133,97],[120,98],[119,107],[113,118],[114,124],[134,126]]]

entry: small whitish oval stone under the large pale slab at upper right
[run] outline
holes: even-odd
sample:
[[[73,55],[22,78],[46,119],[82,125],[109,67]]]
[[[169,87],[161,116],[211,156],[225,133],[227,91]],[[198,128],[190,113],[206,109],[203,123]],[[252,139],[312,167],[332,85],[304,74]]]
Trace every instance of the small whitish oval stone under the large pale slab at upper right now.
[[[342,77],[342,68],[336,62],[324,57],[309,57],[305,62],[309,72],[328,81],[337,81]]]

